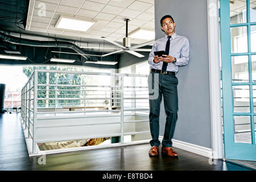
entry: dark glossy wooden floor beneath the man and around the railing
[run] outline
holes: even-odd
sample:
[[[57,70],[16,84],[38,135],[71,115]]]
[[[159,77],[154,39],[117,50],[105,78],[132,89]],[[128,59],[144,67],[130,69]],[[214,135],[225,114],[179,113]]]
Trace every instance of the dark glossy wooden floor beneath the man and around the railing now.
[[[19,114],[0,114],[0,171],[10,170],[218,170],[246,171],[249,169],[216,160],[212,164],[209,158],[193,154],[179,148],[174,150],[179,158],[159,155],[148,156],[150,144],[138,144],[100,150],[69,152],[47,155],[46,164],[39,164],[39,157],[29,158]]]

